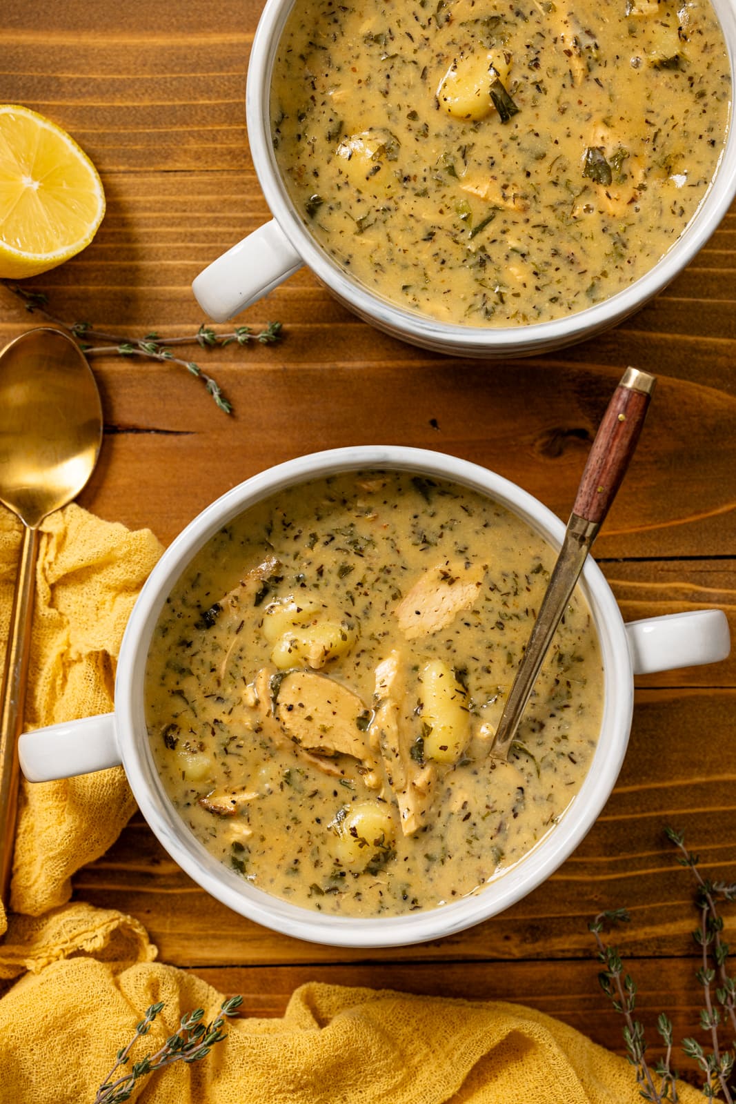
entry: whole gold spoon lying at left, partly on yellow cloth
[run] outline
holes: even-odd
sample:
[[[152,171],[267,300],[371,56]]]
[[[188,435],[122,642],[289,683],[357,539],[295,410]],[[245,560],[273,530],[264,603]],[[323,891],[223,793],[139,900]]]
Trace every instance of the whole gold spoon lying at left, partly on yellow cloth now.
[[[6,346],[0,353],[0,502],[24,527],[0,690],[0,893],[6,904],[39,526],[79,493],[97,463],[102,439],[97,384],[72,338],[44,326]]]

